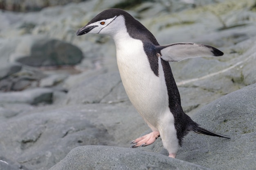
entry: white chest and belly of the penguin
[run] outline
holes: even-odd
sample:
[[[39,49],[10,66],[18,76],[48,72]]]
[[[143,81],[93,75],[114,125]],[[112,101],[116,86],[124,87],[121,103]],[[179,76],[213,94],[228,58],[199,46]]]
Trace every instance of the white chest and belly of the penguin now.
[[[116,42],[116,46],[120,76],[132,105],[147,122],[157,125],[161,113],[169,109],[161,59],[158,59],[159,76],[156,76],[142,41],[129,37]]]

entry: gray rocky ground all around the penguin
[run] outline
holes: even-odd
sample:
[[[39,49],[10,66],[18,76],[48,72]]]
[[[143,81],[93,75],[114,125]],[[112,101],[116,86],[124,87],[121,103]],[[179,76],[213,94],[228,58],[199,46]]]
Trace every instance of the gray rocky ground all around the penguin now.
[[[177,159],[130,104],[102,35],[76,36],[119,1],[87,0],[38,12],[0,11],[0,169],[256,168],[256,1],[142,1],[127,11],[160,44],[195,42],[225,55],[170,63],[182,107],[202,127],[229,135],[189,133]]]

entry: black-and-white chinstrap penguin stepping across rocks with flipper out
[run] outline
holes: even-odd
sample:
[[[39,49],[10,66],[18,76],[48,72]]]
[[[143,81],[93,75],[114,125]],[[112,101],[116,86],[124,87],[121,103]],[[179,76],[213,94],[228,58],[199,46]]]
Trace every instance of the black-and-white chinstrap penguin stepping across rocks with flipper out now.
[[[222,56],[223,52],[195,43],[160,46],[146,27],[121,9],[99,13],[76,35],[86,33],[110,35],[114,39],[118,69],[126,93],[152,129],[152,133],[132,141],[132,148],[150,145],[161,136],[169,157],[175,158],[182,138],[189,131],[229,138],[201,128],[184,113],[168,63],[193,57]]]

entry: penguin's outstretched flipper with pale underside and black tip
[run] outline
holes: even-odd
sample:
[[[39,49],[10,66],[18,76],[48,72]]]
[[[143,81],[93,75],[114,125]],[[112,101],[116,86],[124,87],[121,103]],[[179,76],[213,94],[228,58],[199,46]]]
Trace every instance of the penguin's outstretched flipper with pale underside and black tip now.
[[[212,46],[195,43],[174,43],[155,46],[161,58],[165,61],[182,61],[194,57],[215,57],[224,53]]]

